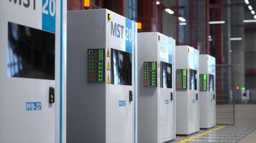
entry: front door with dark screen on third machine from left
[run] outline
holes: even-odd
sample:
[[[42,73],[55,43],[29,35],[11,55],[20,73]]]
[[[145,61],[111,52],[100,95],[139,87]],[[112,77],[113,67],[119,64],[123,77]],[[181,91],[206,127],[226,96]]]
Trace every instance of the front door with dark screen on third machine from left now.
[[[160,89],[158,90],[158,142],[168,142],[174,132],[173,66],[160,62]]]

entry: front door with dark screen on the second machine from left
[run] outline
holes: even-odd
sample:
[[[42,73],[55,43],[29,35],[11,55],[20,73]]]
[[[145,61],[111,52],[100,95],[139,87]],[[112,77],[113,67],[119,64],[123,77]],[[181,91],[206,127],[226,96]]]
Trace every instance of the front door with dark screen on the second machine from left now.
[[[134,139],[132,54],[111,49],[110,56],[106,60],[107,69],[110,66],[106,72],[109,83],[106,84],[106,142],[131,143]]]

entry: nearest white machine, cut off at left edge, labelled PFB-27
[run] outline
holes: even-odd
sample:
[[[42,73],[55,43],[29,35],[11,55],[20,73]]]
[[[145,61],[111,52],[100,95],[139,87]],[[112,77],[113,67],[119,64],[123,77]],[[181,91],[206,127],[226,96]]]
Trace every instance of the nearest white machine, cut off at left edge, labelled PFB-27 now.
[[[1,143],[63,139],[60,45],[65,15],[63,2],[0,1]]]

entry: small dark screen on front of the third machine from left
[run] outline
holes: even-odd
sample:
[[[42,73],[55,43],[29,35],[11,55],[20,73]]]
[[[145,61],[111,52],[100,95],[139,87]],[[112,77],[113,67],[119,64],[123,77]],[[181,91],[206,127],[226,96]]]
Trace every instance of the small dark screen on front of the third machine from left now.
[[[172,80],[172,64],[165,63],[161,61],[161,87],[165,89],[173,88],[173,80]]]

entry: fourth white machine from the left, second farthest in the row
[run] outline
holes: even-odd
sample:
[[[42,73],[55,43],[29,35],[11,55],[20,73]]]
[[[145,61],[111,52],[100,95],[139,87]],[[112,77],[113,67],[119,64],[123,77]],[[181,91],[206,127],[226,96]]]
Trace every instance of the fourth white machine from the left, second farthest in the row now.
[[[198,57],[197,49],[191,46],[176,46],[175,97],[178,135],[199,131]]]

